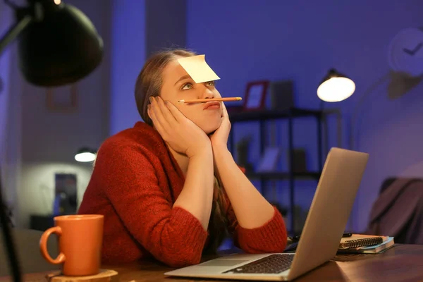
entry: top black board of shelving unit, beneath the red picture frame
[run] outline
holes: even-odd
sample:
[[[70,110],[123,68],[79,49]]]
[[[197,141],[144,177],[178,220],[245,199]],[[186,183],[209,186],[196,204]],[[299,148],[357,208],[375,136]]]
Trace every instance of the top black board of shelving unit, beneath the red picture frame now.
[[[309,109],[292,108],[286,111],[266,109],[263,111],[229,111],[231,123],[237,121],[264,121],[278,118],[321,116],[322,112]]]

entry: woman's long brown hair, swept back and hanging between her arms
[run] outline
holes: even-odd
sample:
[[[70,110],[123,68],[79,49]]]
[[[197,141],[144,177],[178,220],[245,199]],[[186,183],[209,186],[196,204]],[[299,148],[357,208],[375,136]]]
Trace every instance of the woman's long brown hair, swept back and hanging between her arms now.
[[[153,126],[152,120],[147,114],[147,106],[149,97],[157,97],[160,94],[164,68],[178,56],[188,57],[195,55],[194,52],[186,49],[171,49],[160,51],[147,60],[135,83],[135,102],[137,103],[138,112],[145,123]],[[216,176],[214,178],[214,191],[212,216],[209,221],[210,240],[203,253],[216,251],[227,234],[226,200],[223,187]]]

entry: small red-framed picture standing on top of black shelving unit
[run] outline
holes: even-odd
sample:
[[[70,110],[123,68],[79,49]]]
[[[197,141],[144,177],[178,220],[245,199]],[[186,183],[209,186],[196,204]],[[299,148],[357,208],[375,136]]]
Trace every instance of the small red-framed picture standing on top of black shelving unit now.
[[[244,111],[259,111],[264,109],[269,80],[252,81],[245,90]]]

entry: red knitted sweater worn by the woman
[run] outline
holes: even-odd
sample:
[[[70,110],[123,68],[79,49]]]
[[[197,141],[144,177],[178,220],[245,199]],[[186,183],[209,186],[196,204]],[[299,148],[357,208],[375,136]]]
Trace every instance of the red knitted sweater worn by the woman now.
[[[208,232],[190,212],[173,208],[184,181],[164,140],[145,123],[102,144],[79,214],[104,215],[104,263],[146,257],[174,267],[200,262]],[[230,204],[227,212],[235,244],[245,252],[286,247],[285,223],[277,209],[269,222],[253,229],[238,225]]]

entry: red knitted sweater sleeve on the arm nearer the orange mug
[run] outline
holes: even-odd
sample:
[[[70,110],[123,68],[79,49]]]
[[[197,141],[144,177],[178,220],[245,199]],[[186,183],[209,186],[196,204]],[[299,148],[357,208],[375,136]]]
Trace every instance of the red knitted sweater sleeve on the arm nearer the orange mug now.
[[[168,266],[199,263],[207,231],[166,200],[152,161],[135,145],[104,144],[101,150],[94,171],[101,171],[99,183],[133,238]]]

